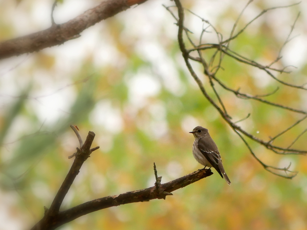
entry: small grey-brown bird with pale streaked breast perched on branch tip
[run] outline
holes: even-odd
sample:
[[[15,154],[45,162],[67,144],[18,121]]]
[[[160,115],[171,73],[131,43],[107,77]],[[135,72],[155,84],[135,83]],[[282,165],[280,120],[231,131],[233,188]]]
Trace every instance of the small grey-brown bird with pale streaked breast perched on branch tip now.
[[[204,167],[208,166],[215,168],[221,177],[225,179],[227,184],[231,185],[224,170],[219,150],[212,140],[208,129],[196,126],[190,133],[193,133],[195,137],[192,152],[197,162],[204,165]]]

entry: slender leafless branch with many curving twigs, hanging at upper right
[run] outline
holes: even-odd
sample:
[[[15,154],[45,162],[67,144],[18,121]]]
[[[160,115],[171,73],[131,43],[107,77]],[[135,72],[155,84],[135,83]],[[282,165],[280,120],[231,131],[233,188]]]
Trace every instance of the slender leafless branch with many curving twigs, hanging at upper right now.
[[[250,4],[251,1],[249,1],[247,3]],[[226,39],[223,41],[223,37],[221,36],[221,34],[214,28],[213,25],[211,25],[207,20],[201,18],[200,16],[194,14],[195,16],[199,17],[202,21],[204,21],[205,23],[209,24],[210,27],[212,27],[217,35],[217,40],[218,40],[218,43],[216,44],[200,44],[195,47],[194,44],[192,44],[192,46],[194,48],[192,49],[189,49],[187,50],[186,49],[186,46],[185,46],[185,43],[184,43],[184,40],[183,40],[183,31],[185,30],[184,28],[184,8],[181,6],[181,3],[180,3],[180,0],[175,0],[175,3],[176,3],[176,6],[177,6],[177,9],[178,9],[178,18],[174,15],[173,17],[176,19],[177,21],[177,25],[178,25],[178,43],[179,43],[179,47],[180,47],[180,50],[182,52],[182,56],[185,60],[185,63],[186,63],[186,66],[188,67],[188,70],[190,72],[190,74],[192,75],[192,77],[194,78],[194,80],[196,81],[196,83],[198,84],[201,92],[203,93],[204,97],[217,109],[217,111],[220,113],[220,115],[222,116],[222,118],[228,123],[228,125],[231,126],[231,128],[240,136],[240,138],[243,140],[243,142],[245,143],[245,145],[247,146],[247,148],[249,149],[249,151],[251,152],[251,154],[255,157],[255,159],[257,159],[257,161],[267,170],[267,171],[270,171],[271,173],[273,174],[276,174],[276,175],[279,175],[279,176],[282,176],[282,177],[285,177],[285,178],[292,178],[293,176],[296,175],[297,172],[293,172],[293,171],[289,171],[289,167],[288,168],[278,168],[278,167],[274,167],[274,166],[268,166],[266,165],[265,163],[263,163],[260,159],[257,158],[257,156],[255,155],[255,153],[253,152],[253,150],[251,149],[250,145],[247,143],[247,141],[245,140],[245,138],[243,136],[247,136],[248,138],[250,138],[251,140],[257,142],[258,144],[261,144],[262,146],[266,147],[267,149],[273,151],[274,153],[277,153],[277,154],[284,154],[284,155],[287,155],[287,154],[306,154],[307,151],[305,150],[298,150],[298,149],[290,149],[290,147],[293,145],[291,144],[288,148],[284,148],[284,147],[281,147],[281,146],[277,146],[277,145],[273,145],[272,142],[273,140],[277,139],[279,136],[281,136],[282,134],[286,133],[287,131],[289,131],[291,128],[293,128],[295,125],[297,125],[298,123],[300,123],[301,121],[303,121],[306,117],[304,117],[303,119],[299,120],[299,121],[296,121],[294,125],[291,125],[290,127],[288,128],[285,128],[284,131],[282,131],[280,134],[278,134],[277,136],[275,136],[273,138],[273,140],[271,139],[270,141],[265,141],[265,140],[262,140],[262,139],[259,139],[257,137],[255,137],[254,135],[252,135],[251,133],[243,130],[240,126],[238,126],[236,123],[238,123],[239,121],[236,121],[236,122],[233,122],[231,121],[231,118],[230,118],[230,115],[227,113],[226,111],[226,108],[225,108],[225,105],[223,103],[223,100],[222,98],[220,97],[219,95],[219,92],[216,90],[215,86],[214,86],[214,81],[217,82],[220,86],[223,87],[223,89],[227,90],[227,91],[230,91],[232,93],[235,94],[235,96],[237,96],[238,98],[241,98],[241,99],[252,99],[252,100],[256,100],[258,102],[261,102],[261,103],[265,103],[267,105],[272,105],[272,106],[275,106],[275,107],[278,107],[280,109],[284,109],[284,110],[288,110],[288,111],[291,111],[291,112],[295,112],[295,113],[302,113],[302,114],[305,114],[307,115],[307,112],[304,111],[304,110],[301,110],[301,109],[294,109],[294,108],[291,108],[289,106],[286,106],[286,105],[282,105],[282,104],[278,104],[278,103],[274,103],[274,102],[270,102],[268,100],[265,100],[263,99],[263,97],[267,97],[267,96],[270,96],[274,93],[277,92],[277,90],[279,89],[279,87],[277,87],[276,90],[274,90],[273,92],[271,93],[268,93],[268,94],[263,94],[263,95],[250,95],[250,94],[244,94],[244,93],[241,93],[239,92],[239,90],[234,90],[232,88],[230,88],[229,86],[227,86],[226,84],[224,84],[223,82],[221,82],[217,77],[216,77],[216,73],[218,72],[218,70],[221,68],[221,63],[222,63],[222,59],[223,59],[223,55],[221,52],[223,52],[223,54],[226,54],[232,58],[234,58],[235,60],[237,61],[240,61],[240,62],[243,62],[245,64],[248,64],[248,65],[251,65],[251,66],[254,66],[254,67],[257,67],[263,71],[265,71],[268,75],[270,75],[274,80],[276,80],[277,82],[283,84],[284,86],[288,86],[288,87],[293,87],[293,88],[297,88],[297,89],[303,89],[303,90],[307,90],[306,88],[304,88],[304,85],[302,86],[297,86],[297,85],[293,85],[293,84],[290,84],[288,82],[283,82],[282,80],[276,78],[272,73],[271,71],[277,71],[279,73],[288,73],[287,71],[285,71],[285,68],[284,69],[276,69],[276,68],[272,68],[270,67],[270,65],[267,65],[267,66],[264,66],[264,65],[261,65],[257,62],[255,62],[254,60],[251,60],[251,59],[248,59],[246,57],[243,57],[242,55],[230,50],[228,48],[228,45],[229,45],[229,42],[233,39],[235,39],[237,36],[239,36],[239,34],[243,33],[243,31],[247,28],[248,25],[251,24],[251,22],[255,21],[258,17],[260,17],[262,14],[266,13],[268,10],[274,10],[274,9],[278,9],[278,8],[284,8],[284,7],[289,7],[289,6],[282,6],[282,7],[272,7],[272,8],[269,8],[269,9],[266,9],[266,10],[263,10],[262,13],[260,13],[259,15],[257,15],[253,20],[251,20],[249,23],[247,23],[247,25],[241,29],[236,35],[232,35],[234,33],[234,30],[235,30],[235,27],[237,25],[237,22],[238,20],[235,22],[235,25],[232,29],[232,32],[231,32],[231,36],[230,38]],[[296,5],[296,4],[294,4]],[[293,5],[290,5],[290,6],[293,6]],[[245,7],[246,8],[246,7]],[[244,8],[244,9],[245,9]],[[243,9],[243,11],[244,11]],[[169,9],[168,9],[169,10]],[[170,10],[169,10],[170,11]],[[192,13],[190,10],[187,10],[188,12]],[[243,13],[242,11],[242,13]],[[239,17],[241,17],[242,13],[240,14]],[[297,21],[297,19],[295,20],[295,22]],[[295,24],[294,22],[294,24]],[[293,24],[293,27],[294,27],[294,24]],[[204,26],[203,26],[204,27]],[[292,33],[293,31],[293,27],[290,31],[290,33]],[[207,28],[206,28],[207,29]],[[201,33],[201,38],[204,34],[204,29],[202,30],[202,33]],[[286,39],[286,42],[289,40],[289,37],[290,35],[288,36],[288,38]],[[201,41],[201,38],[200,38],[200,41]],[[190,39],[189,39],[190,40]],[[285,43],[286,43],[285,42]],[[224,44],[227,44],[227,46],[225,46]],[[284,45],[283,45],[284,46]],[[210,62],[209,64],[206,62],[206,60],[202,57],[202,53],[201,51],[206,51],[208,49],[216,49],[216,51],[214,52],[214,54],[211,56],[211,59],[210,59]],[[192,57],[191,55],[189,55],[190,52],[192,51],[197,51],[198,52],[198,57]],[[214,59],[216,58],[216,55],[220,53],[220,57],[219,57],[219,61],[218,61],[218,64],[216,67],[213,67],[211,70],[209,69],[210,66],[212,66],[213,62],[214,62]],[[199,77],[196,75],[195,71],[193,70],[189,60],[194,60],[194,61],[197,61],[197,62],[200,62],[204,68],[204,74],[208,76],[208,79],[209,79],[209,82],[210,82],[210,86],[212,88],[212,90],[214,91],[214,94],[215,94],[215,97],[217,98],[219,104],[217,104],[213,98],[211,96],[209,96],[209,94],[207,93],[207,91],[205,90],[204,88],[204,85],[202,84],[202,82],[200,81]],[[278,59],[278,58],[277,58]],[[279,58],[280,59],[280,58]],[[249,115],[245,118],[243,118],[242,120],[240,121],[243,121],[245,119],[247,119],[249,117]],[[302,133],[299,135],[301,136]],[[298,136],[298,137],[299,137]],[[297,137],[297,139],[298,139]],[[296,140],[297,140],[296,139]],[[294,140],[294,142],[296,141]],[[276,172],[277,171],[277,172]],[[283,172],[288,172],[288,173],[292,173],[291,175],[283,175],[283,174],[279,174],[278,171],[283,171]]]

